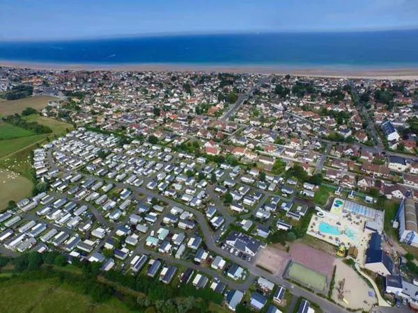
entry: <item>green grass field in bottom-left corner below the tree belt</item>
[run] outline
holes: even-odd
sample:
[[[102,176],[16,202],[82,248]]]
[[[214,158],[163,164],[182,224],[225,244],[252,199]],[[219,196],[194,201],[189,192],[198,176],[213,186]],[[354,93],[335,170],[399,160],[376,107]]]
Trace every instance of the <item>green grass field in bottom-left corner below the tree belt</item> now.
[[[57,280],[36,282],[7,281],[0,283],[1,313],[123,313],[130,312],[118,299],[95,304],[89,296],[70,291]]]

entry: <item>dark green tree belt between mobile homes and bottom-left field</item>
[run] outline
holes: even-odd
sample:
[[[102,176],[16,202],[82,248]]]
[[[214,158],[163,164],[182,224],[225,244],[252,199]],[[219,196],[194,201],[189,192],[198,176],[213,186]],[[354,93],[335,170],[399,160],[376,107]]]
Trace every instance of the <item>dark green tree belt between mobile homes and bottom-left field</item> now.
[[[15,259],[0,256],[0,268],[10,262],[13,262],[15,266],[15,273],[20,274],[17,279],[32,281],[59,278],[59,282],[65,283],[72,291],[91,296],[95,303],[108,300],[116,293],[107,284],[96,280],[96,277],[102,274],[106,280],[147,295],[146,298],[119,295],[123,298],[123,302],[136,312],[185,313],[192,309],[207,312],[210,302],[221,304],[223,300],[222,294],[217,294],[210,288],[196,289],[190,284],[182,284],[180,287],[171,286],[145,275],[134,277],[123,275],[119,271],[102,273],[100,264],[96,262],[79,262],[78,259],[73,259],[73,265],[82,269],[81,275],[54,271],[53,266],[62,267],[68,264],[66,257],[56,251],[42,254],[29,252]],[[13,279],[16,279],[15,276]]]

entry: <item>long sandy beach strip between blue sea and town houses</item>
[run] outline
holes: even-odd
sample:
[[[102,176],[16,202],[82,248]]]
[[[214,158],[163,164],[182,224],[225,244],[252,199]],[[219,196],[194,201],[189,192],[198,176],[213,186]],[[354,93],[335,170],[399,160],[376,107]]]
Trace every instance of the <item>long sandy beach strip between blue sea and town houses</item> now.
[[[353,79],[418,79],[418,66],[378,67],[350,65],[215,65],[188,63],[49,63],[29,61],[0,61],[1,67],[31,68],[33,70],[113,70],[146,72],[232,72],[250,74],[292,74],[306,77],[338,77]]]

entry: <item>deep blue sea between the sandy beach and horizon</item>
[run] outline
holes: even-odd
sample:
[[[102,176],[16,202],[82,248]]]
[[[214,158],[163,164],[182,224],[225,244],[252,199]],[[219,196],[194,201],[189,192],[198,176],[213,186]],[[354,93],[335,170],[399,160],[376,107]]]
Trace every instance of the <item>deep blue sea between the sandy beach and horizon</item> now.
[[[92,65],[417,67],[418,30],[0,42],[0,60]]]

